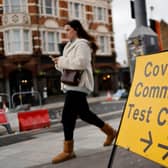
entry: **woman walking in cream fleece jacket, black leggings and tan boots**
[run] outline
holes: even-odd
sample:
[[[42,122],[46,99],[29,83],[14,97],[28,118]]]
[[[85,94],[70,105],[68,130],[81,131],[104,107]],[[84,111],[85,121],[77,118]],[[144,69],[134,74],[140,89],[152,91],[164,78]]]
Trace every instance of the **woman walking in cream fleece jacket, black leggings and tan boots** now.
[[[75,157],[73,150],[73,134],[77,117],[89,124],[95,125],[106,134],[104,146],[112,144],[116,131],[102,121],[89,109],[87,95],[93,91],[93,56],[97,45],[78,20],[69,21],[64,27],[69,42],[63,50],[63,56],[52,58],[57,70],[83,70],[78,86],[62,85],[65,92],[65,103],[62,113],[64,130],[63,151],[52,159],[52,163],[59,163]]]

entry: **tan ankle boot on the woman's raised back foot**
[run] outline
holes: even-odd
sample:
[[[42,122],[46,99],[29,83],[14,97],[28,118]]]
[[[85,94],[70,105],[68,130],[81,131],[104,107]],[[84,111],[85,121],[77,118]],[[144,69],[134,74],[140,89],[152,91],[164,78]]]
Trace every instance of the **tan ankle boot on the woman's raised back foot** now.
[[[117,135],[117,131],[114,130],[110,125],[108,125],[106,123],[101,128],[101,130],[107,135],[106,140],[104,142],[104,146],[111,145]]]

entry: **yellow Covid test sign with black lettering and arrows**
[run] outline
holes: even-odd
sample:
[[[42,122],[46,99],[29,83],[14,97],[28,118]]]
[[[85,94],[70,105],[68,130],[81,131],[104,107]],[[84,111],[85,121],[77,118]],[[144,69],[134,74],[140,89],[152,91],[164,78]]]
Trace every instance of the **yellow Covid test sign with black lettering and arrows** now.
[[[137,57],[116,144],[168,167],[168,52]]]

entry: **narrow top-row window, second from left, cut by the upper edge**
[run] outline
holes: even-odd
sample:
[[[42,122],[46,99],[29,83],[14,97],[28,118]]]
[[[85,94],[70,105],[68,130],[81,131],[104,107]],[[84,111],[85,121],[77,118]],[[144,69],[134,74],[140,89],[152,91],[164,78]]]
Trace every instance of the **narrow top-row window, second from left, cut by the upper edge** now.
[[[41,14],[58,16],[58,0],[40,0]]]

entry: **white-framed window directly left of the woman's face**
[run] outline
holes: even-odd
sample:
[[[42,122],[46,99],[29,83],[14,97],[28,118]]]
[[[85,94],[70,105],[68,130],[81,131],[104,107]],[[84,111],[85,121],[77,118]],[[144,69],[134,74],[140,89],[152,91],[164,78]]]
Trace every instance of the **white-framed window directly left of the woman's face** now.
[[[60,33],[52,31],[42,32],[42,48],[44,54],[58,54],[58,43],[60,42]]]

